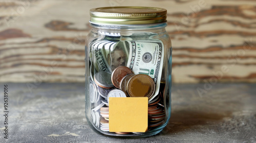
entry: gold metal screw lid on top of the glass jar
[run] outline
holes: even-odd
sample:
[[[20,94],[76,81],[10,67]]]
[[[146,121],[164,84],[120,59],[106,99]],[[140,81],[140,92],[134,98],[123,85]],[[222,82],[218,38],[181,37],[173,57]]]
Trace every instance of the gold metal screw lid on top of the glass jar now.
[[[167,10],[154,7],[103,7],[90,10],[90,22],[102,25],[144,25],[166,21]]]

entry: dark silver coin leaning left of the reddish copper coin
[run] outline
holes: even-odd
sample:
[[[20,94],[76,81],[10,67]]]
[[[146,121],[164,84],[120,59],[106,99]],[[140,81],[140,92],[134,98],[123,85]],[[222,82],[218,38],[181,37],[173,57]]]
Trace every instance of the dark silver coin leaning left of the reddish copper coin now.
[[[94,75],[95,83],[102,88],[112,88],[114,87],[111,81],[111,74],[105,71],[100,71]]]

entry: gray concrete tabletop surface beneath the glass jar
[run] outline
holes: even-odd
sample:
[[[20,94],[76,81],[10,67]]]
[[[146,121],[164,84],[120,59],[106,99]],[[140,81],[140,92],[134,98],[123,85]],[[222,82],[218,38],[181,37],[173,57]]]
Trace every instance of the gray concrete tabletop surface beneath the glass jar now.
[[[8,139],[0,116],[0,142],[256,142],[256,84],[176,84],[172,116],[158,135],[141,139],[105,137],[84,115],[83,83],[8,83]],[[0,83],[4,114],[4,83]]]

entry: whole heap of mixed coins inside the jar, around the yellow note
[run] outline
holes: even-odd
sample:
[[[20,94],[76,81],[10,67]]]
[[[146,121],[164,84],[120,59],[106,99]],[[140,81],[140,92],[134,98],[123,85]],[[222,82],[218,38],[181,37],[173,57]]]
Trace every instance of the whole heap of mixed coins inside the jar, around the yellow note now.
[[[148,97],[155,94],[154,80],[147,75],[133,74],[126,66],[119,66],[111,73],[100,71],[95,73],[94,82],[90,83],[93,124],[101,131],[109,131],[109,98],[110,97]],[[161,125],[165,118],[163,106],[164,82],[161,82],[158,95],[148,102],[148,127],[151,129]],[[101,116],[101,117],[100,117]],[[116,132],[128,134],[128,132]],[[137,132],[134,132],[138,134]]]

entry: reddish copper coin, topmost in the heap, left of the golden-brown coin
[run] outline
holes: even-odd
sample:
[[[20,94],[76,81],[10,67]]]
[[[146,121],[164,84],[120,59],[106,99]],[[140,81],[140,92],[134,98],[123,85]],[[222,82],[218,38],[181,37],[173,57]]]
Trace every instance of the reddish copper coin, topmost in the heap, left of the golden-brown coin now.
[[[112,83],[117,88],[120,88],[120,82],[124,76],[132,74],[132,70],[127,66],[119,66],[117,67],[111,76]]]

